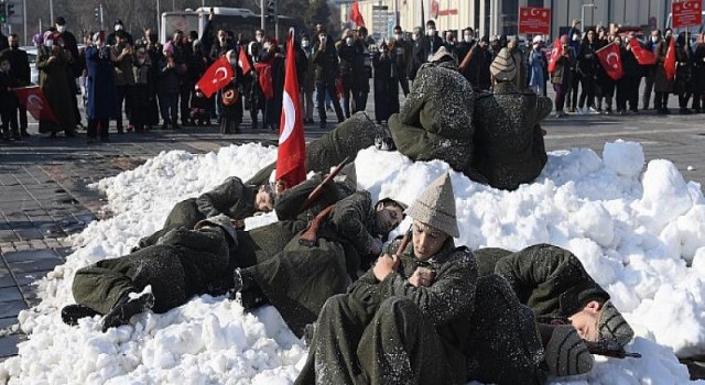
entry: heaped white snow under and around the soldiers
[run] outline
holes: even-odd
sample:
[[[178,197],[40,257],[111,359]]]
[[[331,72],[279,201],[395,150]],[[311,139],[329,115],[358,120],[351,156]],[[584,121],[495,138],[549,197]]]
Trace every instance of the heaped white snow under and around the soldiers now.
[[[73,238],[75,252],[39,282],[42,302],[20,314],[29,340],[20,355],[0,364],[10,384],[290,384],[306,349],[276,310],[246,314],[237,301],[202,296],[163,315],[143,314],[131,326],[100,332],[100,319],[62,323],[73,304],[76,270],[127,254],[159,229],[171,207],[220,184],[247,178],[276,156],[273,147],[246,144],[218,153],[162,153],[134,170],[98,184],[109,198],[108,220]],[[364,150],[359,187],[375,198],[410,204],[447,164],[412,163],[397,152]],[[627,349],[642,359],[597,358],[572,384],[680,384],[688,382],[676,354],[705,353],[705,199],[675,166],[651,161],[641,145],[607,143],[600,158],[579,148],[550,154],[535,183],[516,191],[475,184],[451,170],[460,238],[470,248],[518,250],[547,242],[571,250],[611,295],[633,326]],[[273,221],[250,218],[249,228]],[[409,223],[402,223],[405,229]],[[675,353],[675,354],[674,354]],[[570,381],[566,381],[570,380]]]

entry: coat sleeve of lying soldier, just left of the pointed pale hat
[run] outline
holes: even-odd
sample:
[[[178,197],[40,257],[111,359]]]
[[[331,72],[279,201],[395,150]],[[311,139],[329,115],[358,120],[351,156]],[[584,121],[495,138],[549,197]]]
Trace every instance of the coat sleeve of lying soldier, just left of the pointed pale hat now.
[[[352,244],[360,255],[369,255],[373,239],[366,223],[372,213],[372,199],[367,191],[357,191],[336,204],[333,223],[338,234]]]

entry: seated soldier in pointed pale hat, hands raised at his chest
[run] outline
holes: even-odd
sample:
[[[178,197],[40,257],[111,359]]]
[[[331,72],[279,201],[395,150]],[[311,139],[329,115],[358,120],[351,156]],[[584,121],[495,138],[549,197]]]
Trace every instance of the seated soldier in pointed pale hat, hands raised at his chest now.
[[[469,250],[453,243],[458,228],[449,176],[406,213],[414,219],[412,241],[400,255],[382,254],[348,294],[325,302],[296,384],[465,383],[477,266]]]

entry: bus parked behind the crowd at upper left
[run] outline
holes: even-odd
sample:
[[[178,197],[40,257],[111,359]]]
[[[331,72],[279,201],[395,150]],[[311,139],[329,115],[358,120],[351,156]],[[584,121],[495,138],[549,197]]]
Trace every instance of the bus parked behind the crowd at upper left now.
[[[214,14],[210,35],[204,36],[206,23],[210,13]],[[200,7],[195,11],[186,10],[178,12],[163,12],[160,28],[160,42],[162,44],[171,40],[176,30],[188,34],[189,31],[198,32],[198,37],[204,41],[213,41],[219,29],[232,31],[235,36],[242,33],[247,38],[254,37],[254,31],[260,28],[261,15],[252,12],[247,8],[230,7]],[[275,24],[273,18],[267,18],[267,35],[274,36]],[[295,28],[300,34],[301,26],[295,19],[289,16],[279,16],[279,36],[276,40],[285,42],[286,33],[290,28]]]

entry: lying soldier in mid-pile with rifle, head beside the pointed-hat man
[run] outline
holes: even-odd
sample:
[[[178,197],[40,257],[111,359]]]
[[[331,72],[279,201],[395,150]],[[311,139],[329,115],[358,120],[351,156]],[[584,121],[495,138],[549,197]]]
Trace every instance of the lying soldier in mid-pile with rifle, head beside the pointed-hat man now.
[[[357,191],[318,213],[271,260],[236,270],[232,294],[246,309],[269,301],[301,337],[325,300],[344,293],[379,255],[403,209],[392,199],[373,205],[368,191]]]

